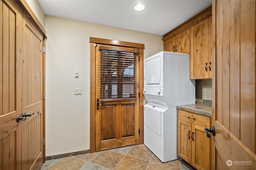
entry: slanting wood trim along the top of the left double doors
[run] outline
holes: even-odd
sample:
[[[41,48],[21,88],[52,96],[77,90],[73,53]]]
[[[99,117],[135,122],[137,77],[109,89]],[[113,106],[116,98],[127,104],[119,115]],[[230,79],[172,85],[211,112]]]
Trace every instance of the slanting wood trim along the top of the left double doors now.
[[[26,12],[26,14],[32,20],[32,22],[36,25],[36,27],[38,27],[42,31],[42,33],[46,36],[46,31],[43,25],[40,23],[40,21],[38,20],[34,12],[31,10],[26,0],[16,0],[16,1],[21,6],[21,8]]]

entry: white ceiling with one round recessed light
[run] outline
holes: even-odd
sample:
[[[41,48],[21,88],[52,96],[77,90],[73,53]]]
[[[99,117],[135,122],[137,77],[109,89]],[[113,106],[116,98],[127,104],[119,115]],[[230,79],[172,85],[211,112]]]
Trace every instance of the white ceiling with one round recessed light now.
[[[45,15],[164,35],[212,0],[38,0]],[[142,3],[143,11],[134,10]]]

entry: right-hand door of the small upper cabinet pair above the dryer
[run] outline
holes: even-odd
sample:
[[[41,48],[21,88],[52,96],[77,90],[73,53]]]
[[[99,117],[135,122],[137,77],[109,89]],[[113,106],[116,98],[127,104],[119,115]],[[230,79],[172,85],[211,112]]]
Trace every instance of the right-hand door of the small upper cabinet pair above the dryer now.
[[[187,29],[175,36],[175,52],[190,53],[190,29]]]

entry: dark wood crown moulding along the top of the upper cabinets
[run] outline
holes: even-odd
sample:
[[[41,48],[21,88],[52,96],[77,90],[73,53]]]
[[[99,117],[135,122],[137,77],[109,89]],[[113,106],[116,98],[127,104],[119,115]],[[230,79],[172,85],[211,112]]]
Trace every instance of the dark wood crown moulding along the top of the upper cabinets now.
[[[174,37],[178,33],[181,33],[182,31],[192,27],[193,25],[199,23],[202,20],[205,20],[206,18],[209,18],[212,16],[212,6],[206,8],[196,16],[190,18],[188,21],[182,23],[178,27],[172,29],[172,31],[166,33],[164,37],[162,38],[163,41],[166,41],[167,39],[170,39],[171,37]]]

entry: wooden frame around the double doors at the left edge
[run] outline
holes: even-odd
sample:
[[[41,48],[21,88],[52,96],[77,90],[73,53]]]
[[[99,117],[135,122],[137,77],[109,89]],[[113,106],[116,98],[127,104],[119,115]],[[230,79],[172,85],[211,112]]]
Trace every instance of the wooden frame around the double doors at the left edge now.
[[[5,1],[5,0],[4,0]],[[20,5],[21,9],[27,14],[27,16],[30,18],[32,23],[34,23],[35,27],[40,31],[44,38],[43,38],[43,46],[46,48],[46,30],[44,29],[43,25],[40,23],[30,6],[25,0],[16,0],[16,2]],[[45,79],[46,79],[46,74],[45,74],[45,57],[46,54],[42,53],[42,93],[45,94]],[[43,95],[42,94],[42,95]],[[42,139],[45,140],[45,98],[42,100]],[[42,156],[43,156],[43,162],[45,162],[45,141],[43,141],[43,148],[42,148]]]

